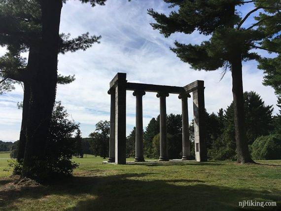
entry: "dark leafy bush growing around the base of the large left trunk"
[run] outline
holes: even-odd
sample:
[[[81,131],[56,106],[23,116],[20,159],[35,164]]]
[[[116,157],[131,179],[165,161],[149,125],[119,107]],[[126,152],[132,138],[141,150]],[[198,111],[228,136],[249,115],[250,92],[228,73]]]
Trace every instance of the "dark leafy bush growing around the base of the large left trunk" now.
[[[56,102],[49,128],[45,161],[34,158],[35,164],[29,168],[13,161],[10,167],[14,168],[15,174],[19,174],[24,169],[28,172],[28,177],[38,181],[58,179],[72,174],[78,164],[72,162],[71,159],[78,152],[75,141],[71,137],[72,133],[79,129],[79,124],[76,124],[74,120],[69,120],[69,116],[61,102]]]

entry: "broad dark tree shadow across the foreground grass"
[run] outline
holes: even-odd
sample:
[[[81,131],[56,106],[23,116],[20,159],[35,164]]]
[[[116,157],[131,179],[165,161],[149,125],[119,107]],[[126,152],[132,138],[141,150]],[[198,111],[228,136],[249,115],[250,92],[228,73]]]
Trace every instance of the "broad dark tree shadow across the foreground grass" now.
[[[50,186],[3,190],[0,191],[0,199],[4,201],[0,201],[0,207],[3,210],[17,210],[13,203],[20,203],[23,199],[75,196],[79,200],[75,208],[68,209],[69,211],[239,210],[239,202],[243,200],[275,201],[278,207],[273,207],[273,210],[281,208],[280,190],[272,192],[234,189],[208,185],[197,179],[151,180],[149,176],[151,175],[74,176]],[[85,194],[87,197],[83,198]],[[61,208],[65,210],[63,206],[65,205],[62,202]],[[253,208],[269,210],[269,207]]]

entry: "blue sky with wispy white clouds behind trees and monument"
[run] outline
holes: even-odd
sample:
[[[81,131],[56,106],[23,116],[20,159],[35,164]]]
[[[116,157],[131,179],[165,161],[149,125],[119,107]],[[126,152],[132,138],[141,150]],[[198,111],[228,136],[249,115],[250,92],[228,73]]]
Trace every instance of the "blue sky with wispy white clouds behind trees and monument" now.
[[[242,14],[247,8],[238,8]],[[109,82],[117,72],[126,72],[129,82],[150,83],[171,86],[185,86],[195,80],[205,81],[205,106],[208,112],[217,112],[232,102],[231,72],[220,80],[221,71],[197,71],[181,62],[169,49],[175,39],[179,42],[201,43],[206,39],[199,33],[175,34],[165,38],[154,31],[149,23],[154,20],[147,9],[169,13],[171,9],[162,0],[107,0],[105,6],[92,8],[77,0],[69,0],[62,9],[62,33],[72,37],[85,32],[102,35],[101,43],[86,51],[59,55],[58,71],[64,75],[75,74],[76,80],[69,85],[58,85],[57,101],[68,110],[71,117],[80,123],[82,136],[95,130],[100,120],[109,120]],[[247,23],[252,23],[253,19]],[[0,49],[0,55],[5,52]],[[260,51],[262,55],[266,52]],[[243,64],[244,91],[256,91],[266,105],[274,105],[278,112],[277,98],[271,87],[262,85],[263,71],[257,69],[254,61]],[[127,91],[127,134],[135,126],[135,97]],[[0,96],[0,140],[19,139],[21,102],[23,90],[16,90]],[[189,100],[189,120],[192,119],[192,99]],[[177,95],[167,98],[167,113],[181,113],[181,101]],[[143,125],[159,114],[159,99],[156,93],[143,97]]]

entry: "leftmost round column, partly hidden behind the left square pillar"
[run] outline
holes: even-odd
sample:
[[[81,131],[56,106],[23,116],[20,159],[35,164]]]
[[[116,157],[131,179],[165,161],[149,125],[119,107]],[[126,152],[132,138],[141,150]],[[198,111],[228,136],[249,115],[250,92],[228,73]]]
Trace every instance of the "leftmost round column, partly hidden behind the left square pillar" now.
[[[109,158],[108,163],[115,162],[115,89],[107,92],[110,95],[110,133],[109,133]]]

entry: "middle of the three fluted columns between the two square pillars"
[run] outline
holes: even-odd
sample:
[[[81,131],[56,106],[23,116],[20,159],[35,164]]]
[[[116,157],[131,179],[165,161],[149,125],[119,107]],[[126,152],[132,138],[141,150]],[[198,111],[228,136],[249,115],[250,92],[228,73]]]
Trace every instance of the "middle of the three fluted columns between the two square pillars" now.
[[[168,92],[158,92],[157,98],[160,98],[160,157],[159,161],[168,161],[167,144],[167,123],[166,123],[166,97]]]

